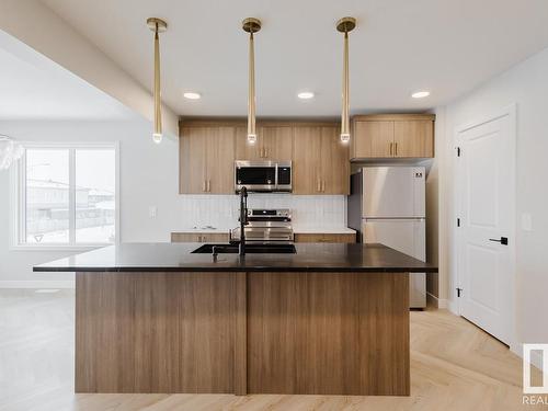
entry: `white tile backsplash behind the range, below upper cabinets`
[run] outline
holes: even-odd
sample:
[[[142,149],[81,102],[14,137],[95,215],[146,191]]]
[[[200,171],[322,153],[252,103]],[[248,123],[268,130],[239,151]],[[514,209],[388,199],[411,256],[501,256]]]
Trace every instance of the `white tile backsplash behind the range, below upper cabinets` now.
[[[213,226],[219,229],[238,225],[240,201],[237,195],[181,195],[181,227]],[[250,208],[290,208],[293,224],[299,227],[346,227],[346,196],[249,194]]]

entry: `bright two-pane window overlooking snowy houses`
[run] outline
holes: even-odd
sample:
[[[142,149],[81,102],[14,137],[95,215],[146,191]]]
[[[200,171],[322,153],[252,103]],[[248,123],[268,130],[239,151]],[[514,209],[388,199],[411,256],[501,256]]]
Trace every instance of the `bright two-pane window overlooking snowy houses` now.
[[[115,145],[25,145],[16,178],[16,243],[115,242],[116,159]]]

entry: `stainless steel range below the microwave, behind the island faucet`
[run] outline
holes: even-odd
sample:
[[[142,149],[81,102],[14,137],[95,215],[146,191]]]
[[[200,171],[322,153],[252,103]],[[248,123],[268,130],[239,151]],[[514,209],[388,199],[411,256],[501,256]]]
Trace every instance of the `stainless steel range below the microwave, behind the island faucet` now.
[[[246,242],[251,243],[290,243],[294,240],[292,210],[287,208],[250,208]],[[230,230],[230,240],[240,240],[240,228]]]

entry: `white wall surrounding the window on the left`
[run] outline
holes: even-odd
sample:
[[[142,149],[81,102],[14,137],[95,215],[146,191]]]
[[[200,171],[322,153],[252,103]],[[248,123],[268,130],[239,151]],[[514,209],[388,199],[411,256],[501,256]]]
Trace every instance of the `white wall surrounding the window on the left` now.
[[[146,121],[0,122],[0,134],[23,141],[116,141],[119,140],[121,239],[122,241],[168,241],[178,224],[178,144],[164,139],[156,145]],[[100,164],[98,164],[100,167]],[[14,251],[10,249],[10,178],[0,171],[0,286],[2,282],[65,281],[68,273],[32,273],[32,265],[70,254],[64,251]],[[158,216],[148,217],[149,205]],[[14,283],[3,283],[13,285]],[[15,284],[16,285],[16,284]]]

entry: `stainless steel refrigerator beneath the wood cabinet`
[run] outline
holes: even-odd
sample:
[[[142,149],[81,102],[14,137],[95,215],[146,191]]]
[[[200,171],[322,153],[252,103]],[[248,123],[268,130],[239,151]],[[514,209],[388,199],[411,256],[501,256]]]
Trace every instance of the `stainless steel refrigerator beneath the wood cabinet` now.
[[[365,167],[351,178],[349,227],[358,241],[378,242],[426,261],[424,167]],[[411,308],[426,307],[426,274],[410,273]]]

